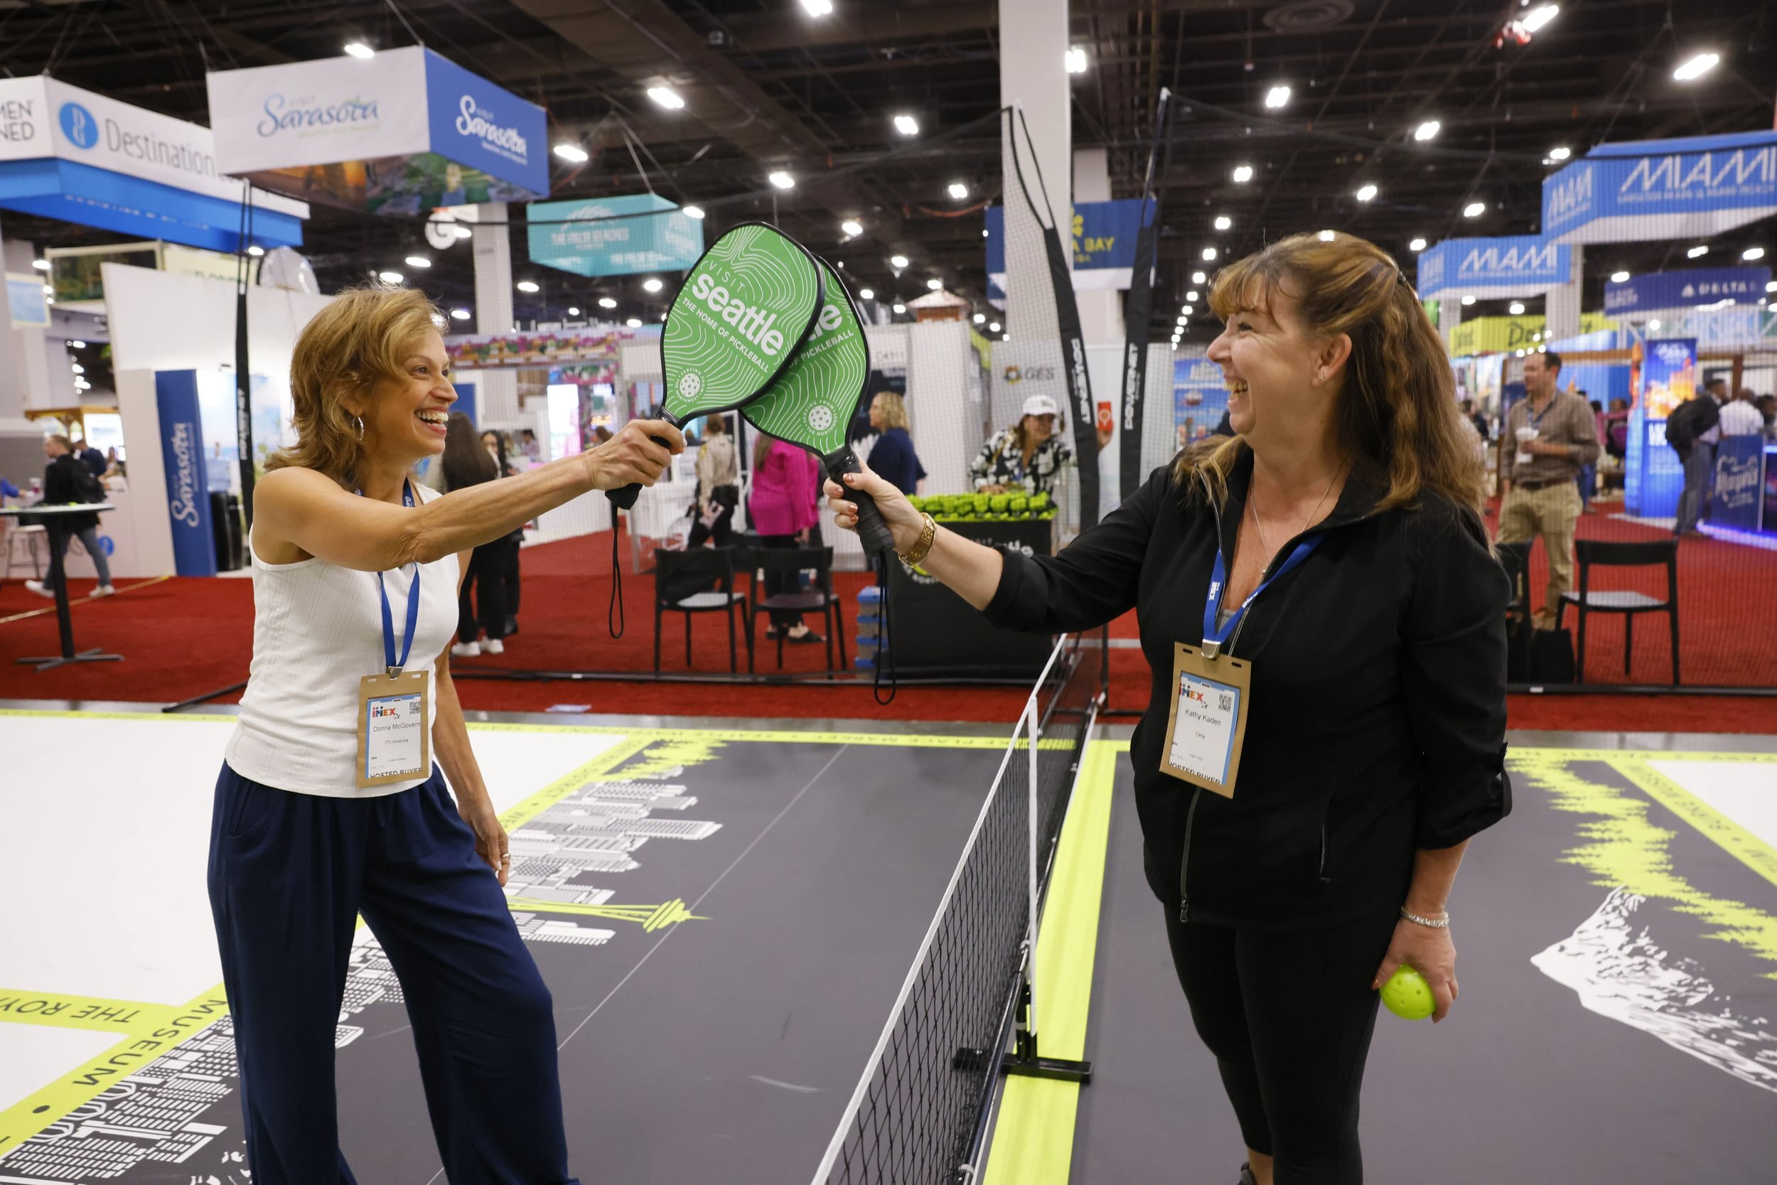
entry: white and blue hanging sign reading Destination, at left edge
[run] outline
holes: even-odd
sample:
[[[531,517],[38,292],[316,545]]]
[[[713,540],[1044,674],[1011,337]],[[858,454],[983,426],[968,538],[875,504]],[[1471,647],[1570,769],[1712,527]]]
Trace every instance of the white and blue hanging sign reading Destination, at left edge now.
[[[0,208],[139,238],[235,252],[247,187],[215,137],[55,78],[0,78]],[[309,208],[252,195],[261,247],[302,245]]]

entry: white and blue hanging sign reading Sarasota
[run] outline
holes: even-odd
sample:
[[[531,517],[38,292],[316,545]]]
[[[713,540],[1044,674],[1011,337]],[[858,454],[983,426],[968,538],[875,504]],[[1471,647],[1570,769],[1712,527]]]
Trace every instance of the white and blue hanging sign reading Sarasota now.
[[[217,167],[368,213],[549,192],[544,110],[432,50],[206,75]]]

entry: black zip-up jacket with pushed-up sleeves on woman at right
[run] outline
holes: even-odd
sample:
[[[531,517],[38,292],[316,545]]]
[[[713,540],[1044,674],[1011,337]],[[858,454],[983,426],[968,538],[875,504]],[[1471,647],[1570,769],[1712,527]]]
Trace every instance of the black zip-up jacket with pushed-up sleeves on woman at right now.
[[[1253,663],[1235,792],[1199,791],[1160,773],[1173,643],[1203,641],[1217,540],[1231,554],[1251,473],[1247,451],[1217,513],[1157,469],[1061,554],[1006,553],[986,615],[1061,632],[1139,611],[1153,695],[1130,760],[1148,885],[1167,908],[1272,929],[1391,911],[1414,849],[1459,844],[1512,808],[1509,585],[1473,512],[1430,494],[1377,512],[1381,490],[1347,480],[1320,545],[1246,613],[1231,650]]]

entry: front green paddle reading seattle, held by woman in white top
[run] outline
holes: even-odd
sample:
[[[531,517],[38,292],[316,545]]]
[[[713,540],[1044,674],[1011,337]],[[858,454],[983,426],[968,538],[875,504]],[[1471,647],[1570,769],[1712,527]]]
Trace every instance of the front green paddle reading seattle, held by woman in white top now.
[[[723,231],[686,272],[666,313],[661,416],[682,428],[752,400],[791,364],[823,297],[821,266],[789,235],[764,222]],[[626,485],[608,497],[627,510],[640,492]]]

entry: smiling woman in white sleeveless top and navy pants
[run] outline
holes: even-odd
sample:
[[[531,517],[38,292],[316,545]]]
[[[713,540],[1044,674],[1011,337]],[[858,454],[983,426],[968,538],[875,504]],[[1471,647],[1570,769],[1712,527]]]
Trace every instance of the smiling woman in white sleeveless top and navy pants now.
[[[217,778],[210,901],[256,1185],[354,1180],[332,1052],[359,915],[402,981],[448,1180],[572,1181],[553,1004],[506,911],[506,833],[450,679],[457,586],[478,544],[650,485],[684,439],[633,421],[506,481],[423,489],[412,467],[442,453],[457,400],[435,318],[418,291],[368,288],[309,322],[299,442],[254,490],[252,673]]]

